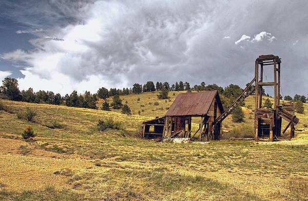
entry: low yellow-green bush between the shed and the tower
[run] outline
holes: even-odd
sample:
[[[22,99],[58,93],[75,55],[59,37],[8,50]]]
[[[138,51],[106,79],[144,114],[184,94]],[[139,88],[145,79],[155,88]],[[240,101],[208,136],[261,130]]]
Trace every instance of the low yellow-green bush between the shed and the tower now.
[[[255,131],[253,126],[243,125],[229,132],[224,132],[221,136],[221,139],[230,139],[230,138],[251,138],[255,136]]]

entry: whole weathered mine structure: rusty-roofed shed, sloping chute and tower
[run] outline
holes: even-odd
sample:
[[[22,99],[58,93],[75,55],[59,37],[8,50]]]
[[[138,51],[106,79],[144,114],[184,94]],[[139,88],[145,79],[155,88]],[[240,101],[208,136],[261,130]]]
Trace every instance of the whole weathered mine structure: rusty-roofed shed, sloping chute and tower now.
[[[171,105],[166,115],[143,123],[144,137],[192,137],[200,130],[199,139],[206,137],[218,139],[222,131],[222,121],[238,107],[244,99],[255,91],[255,140],[268,137],[269,141],[281,138],[281,121],[288,122],[284,133],[291,127],[290,139],[294,136],[294,126],[299,118],[294,115],[293,103],[280,104],[280,64],[281,59],[273,54],[260,55],[255,62],[255,77],[247,84],[243,92],[227,108],[223,109],[217,91],[181,93]],[[274,82],[263,82],[263,68],[272,67]],[[255,83],[255,86],[253,86]],[[262,88],[274,87],[274,108],[262,108]],[[191,117],[201,117],[199,130],[191,136]],[[152,131],[149,130],[153,126]]]

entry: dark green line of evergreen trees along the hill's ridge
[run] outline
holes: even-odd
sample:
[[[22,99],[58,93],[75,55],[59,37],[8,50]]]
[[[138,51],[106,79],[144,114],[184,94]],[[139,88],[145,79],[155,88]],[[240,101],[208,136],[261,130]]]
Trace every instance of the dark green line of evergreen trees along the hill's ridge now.
[[[151,91],[163,91],[164,95],[159,98],[168,97],[168,91],[211,91],[217,90],[221,96],[221,100],[224,108],[232,103],[232,101],[238,97],[243,89],[234,84],[230,84],[225,88],[218,86],[217,84],[209,84],[206,85],[205,82],[200,83],[200,85],[195,85],[194,87],[190,87],[188,82],[175,84],[170,84],[168,82],[157,82],[156,85],[152,81],[148,81],[145,85],[141,85],[139,83],[133,84],[132,88],[110,88],[110,90],[102,87],[97,93],[91,94],[89,91],[86,91],[84,94],[78,94],[77,91],[73,91],[70,95],[66,94],[65,96],[61,96],[61,94],[55,94],[52,91],[44,91],[40,90],[37,92],[33,92],[32,88],[28,90],[20,91],[18,89],[18,81],[15,78],[6,77],[2,81],[3,85],[0,87],[0,98],[7,98],[10,100],[23,101],[28,103],[46,103],[52,105],[66,105],[69,107],[80,107],[80,108],[90,108],[90,109],[98,109],[96,103],[99,98],[106,99],[108,97],[113,97],[115,95],[128,95],[128,94],[140,94],[142,92],[151,92]],[[254,86],[251,86],[251,88]],[[254,92],[253,92],[254,93]],[[262,90],[262,94],[265,95],[264,89]],[[267,94],[268,95],[268,94]],[[282,99],[282,97],[281,97]],[[294,98],[291,96],[284,96],[285,100],[297,101],[300,100],[302,103],[307,101],[307,98],[304,95],[296,94]],[[244,104],[244,103],[243,103]],[[117,106],[115,106],[117,107]]]

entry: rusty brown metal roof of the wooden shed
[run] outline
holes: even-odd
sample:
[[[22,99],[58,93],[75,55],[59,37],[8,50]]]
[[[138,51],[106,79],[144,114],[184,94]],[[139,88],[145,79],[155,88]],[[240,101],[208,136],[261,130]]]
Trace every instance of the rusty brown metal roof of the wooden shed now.
[[[223,111],[221,100],[216,90],[180,93],[170,106],[166,116],[204,115],[208,112],[215,97],[218,107]]]

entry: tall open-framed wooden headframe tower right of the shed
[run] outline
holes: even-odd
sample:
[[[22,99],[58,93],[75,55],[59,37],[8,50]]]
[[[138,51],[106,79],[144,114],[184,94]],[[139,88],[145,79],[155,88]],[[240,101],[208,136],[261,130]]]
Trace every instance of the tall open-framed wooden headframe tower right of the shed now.
[[[255,64],[255,140],[260,136],[269,135],[269,141],[274,138],[278,140],[281,135],[281,120],[284,118],[291,125],[290,138],[294,136],[294,125],[298,123],[298,118],[294,115],[293,104],[280,105],[280,64],[281,59],[273,54],[261,55],[256,59]],[[263,82],[263,67],[273,68],[274,81]],[[259,77],[260,74],[260,77]],[[262,88],[263,86],[274,87],[273,109],[262,108]],[[288,126],[284,129],[286,131]]]

